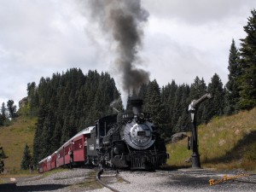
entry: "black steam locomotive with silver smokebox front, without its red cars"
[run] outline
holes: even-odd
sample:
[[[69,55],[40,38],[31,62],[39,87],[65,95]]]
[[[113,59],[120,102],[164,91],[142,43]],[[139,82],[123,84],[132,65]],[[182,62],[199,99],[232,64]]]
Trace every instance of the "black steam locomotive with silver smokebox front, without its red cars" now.
[[[166,164],[169,154],[143,100],[130,98],[124,113],[96,121],[87,139],[87,162],[131,169],[155,169]]]

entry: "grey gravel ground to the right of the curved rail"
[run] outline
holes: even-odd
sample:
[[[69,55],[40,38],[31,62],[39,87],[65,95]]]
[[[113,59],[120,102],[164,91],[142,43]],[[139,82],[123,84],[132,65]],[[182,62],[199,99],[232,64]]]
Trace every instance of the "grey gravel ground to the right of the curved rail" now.
[[[119,191],[147,191],[147,192],[176,192],[176,191],[192,191],[192,192],[255,192],[256,176],[247,176],[242,172],[236,173],[219,173],[206,172],[201,170],[182,171],[182,172],[121,172],[121,176],[129,180],[131,183],[113,183],[110,186]],[[228,180],[224,182],[224,176],[240,177],[241,181],[249,181],[254,183],[244,183]],[[219,181],[219,183],[210,186],[209,180]],[[96,189],[94,192],[110,191],[108,189]]]

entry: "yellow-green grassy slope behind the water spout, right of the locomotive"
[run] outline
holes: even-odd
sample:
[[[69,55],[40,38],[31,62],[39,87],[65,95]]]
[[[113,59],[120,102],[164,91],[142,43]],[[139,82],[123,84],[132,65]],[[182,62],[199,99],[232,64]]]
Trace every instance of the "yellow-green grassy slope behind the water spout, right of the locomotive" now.
[[[212,119],[207,125],[200,125],[198,133],[202,167],[256,170],[256,108]],[[191,166],[184,162],[192,154],[187,139],[167,144],[167,151],[168,165]]]

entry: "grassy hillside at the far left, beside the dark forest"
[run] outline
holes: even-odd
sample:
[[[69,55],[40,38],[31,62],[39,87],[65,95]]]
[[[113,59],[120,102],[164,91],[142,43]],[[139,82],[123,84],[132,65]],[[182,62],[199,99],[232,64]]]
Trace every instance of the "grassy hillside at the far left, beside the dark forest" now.
[[[4,160],[5,170],[15,173],[20,170],[25,144],[32,152],[32,143],[37,120],[30,117],[19,117],[13,125],[0,128],[0,145],[8,156]]]

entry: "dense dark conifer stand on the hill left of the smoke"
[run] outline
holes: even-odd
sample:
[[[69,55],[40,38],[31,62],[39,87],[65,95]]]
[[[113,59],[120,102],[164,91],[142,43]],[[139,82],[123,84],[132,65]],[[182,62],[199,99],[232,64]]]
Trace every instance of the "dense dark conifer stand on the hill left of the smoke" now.
[[[108,73],[89,71],[84,75],[77,68],[42,78],[38,86],[34,82],[27,84],[27,103],[21,111],[38,117],[34,163],[55,152],[70,137],[93,125],[96,119],[113,113],[110,103],[119,96]]]

